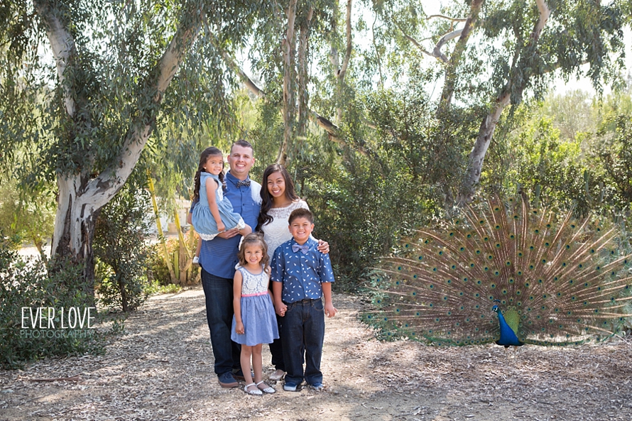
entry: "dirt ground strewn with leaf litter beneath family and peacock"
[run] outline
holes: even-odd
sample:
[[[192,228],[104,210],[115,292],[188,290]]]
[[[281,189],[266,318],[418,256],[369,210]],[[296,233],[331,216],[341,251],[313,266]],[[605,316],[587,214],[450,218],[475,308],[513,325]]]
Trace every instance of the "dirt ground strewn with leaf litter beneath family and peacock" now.
[[[326,390],[246,396],[213,373],[204,297],[154,297],[104,356],[0,371],[0,420],[632,420],[632,341],[547,349],[436,349],[376,341],[361,303],[335,295]],[[271,373],[264,347],[264,375]],[[80,376],[80,381],[36,378]]]

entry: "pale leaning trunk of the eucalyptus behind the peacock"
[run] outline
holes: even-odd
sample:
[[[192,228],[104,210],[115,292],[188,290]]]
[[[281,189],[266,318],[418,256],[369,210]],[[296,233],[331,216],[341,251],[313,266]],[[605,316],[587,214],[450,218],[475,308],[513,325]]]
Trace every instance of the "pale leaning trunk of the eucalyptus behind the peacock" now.
[[[523,56],[527,57],[528,55],[536,53],[540,34],[542,33],[551,13],[545,3],[545,0],[535,0],[535,3],[538,4],[540,17],[538,18],[538,22],[535,23],[535,27],[529,37],[529,43],[523,51]],[[517,63],[514,67],[516,65],[520,64]],[[511,94],[513,93],[516,97],[521,97],[522,92],[528,83],[528,77],[522,77],[521,82],[518,84],[513,80],[512,76],[513,72],[510,71],[508,83],[505,87],[503,87],[501,94],[496,97],[496,101],[494,102],[491,112],[481,122],[479,135],[476,137],[476,142],[474,143],[472,152],[469,153],[467,173],[465,174],[461,190],[459,192],[458,202],[460,206],[472,202],[476,186],[481,179],[485,154],[489,148],[491,138],[494,136],[494,130],[496,130],[496,125],[498,124],[498,119],[500,119],[503,109],[511,103]]]

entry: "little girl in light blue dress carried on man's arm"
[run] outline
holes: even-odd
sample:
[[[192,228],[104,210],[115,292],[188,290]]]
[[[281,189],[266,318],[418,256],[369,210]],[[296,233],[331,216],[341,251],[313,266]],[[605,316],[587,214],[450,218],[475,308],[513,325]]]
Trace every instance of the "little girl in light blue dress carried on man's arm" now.
[[[212,240],[222,231],[239,229],[246,236],[252,232],[244,219],[236,214],[233,205],[224,197],[224,156],[211,146],[202,151],[195,173],[193,202],[198,200],[191,215],[191,223],[202,240]]]

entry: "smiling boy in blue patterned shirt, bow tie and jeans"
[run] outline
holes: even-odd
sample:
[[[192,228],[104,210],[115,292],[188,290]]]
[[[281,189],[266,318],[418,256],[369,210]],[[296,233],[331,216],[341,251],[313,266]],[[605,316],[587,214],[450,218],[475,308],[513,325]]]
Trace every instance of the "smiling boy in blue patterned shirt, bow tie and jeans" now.
[[[312,212],[295,209],[288,223],[293,239],[274,252],[271,273],[274,308],[283,317],[280,336],[287,371],[283,390],[295,392],[303,380],[315,390],[322,390],[320,359],[325,315],[334,317],[337,313],[332,304],[334,272],[329,254],[317,251],[318,241],[310,236],[314,229]]]

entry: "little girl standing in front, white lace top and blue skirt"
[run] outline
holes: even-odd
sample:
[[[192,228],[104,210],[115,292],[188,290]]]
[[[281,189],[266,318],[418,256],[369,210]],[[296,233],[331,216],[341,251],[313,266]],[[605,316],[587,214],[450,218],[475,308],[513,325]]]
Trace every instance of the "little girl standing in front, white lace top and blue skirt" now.
[[[239,267],[233,278],[233,325],[231,339],[241,344],[241,371],[249,395],[274,393],[263,381],[261,349],[278,339],[276,314],[272,305],[268,247],[261,234],[248,234],[239,248]],[[254,381],[250,375],[250,363]]]

